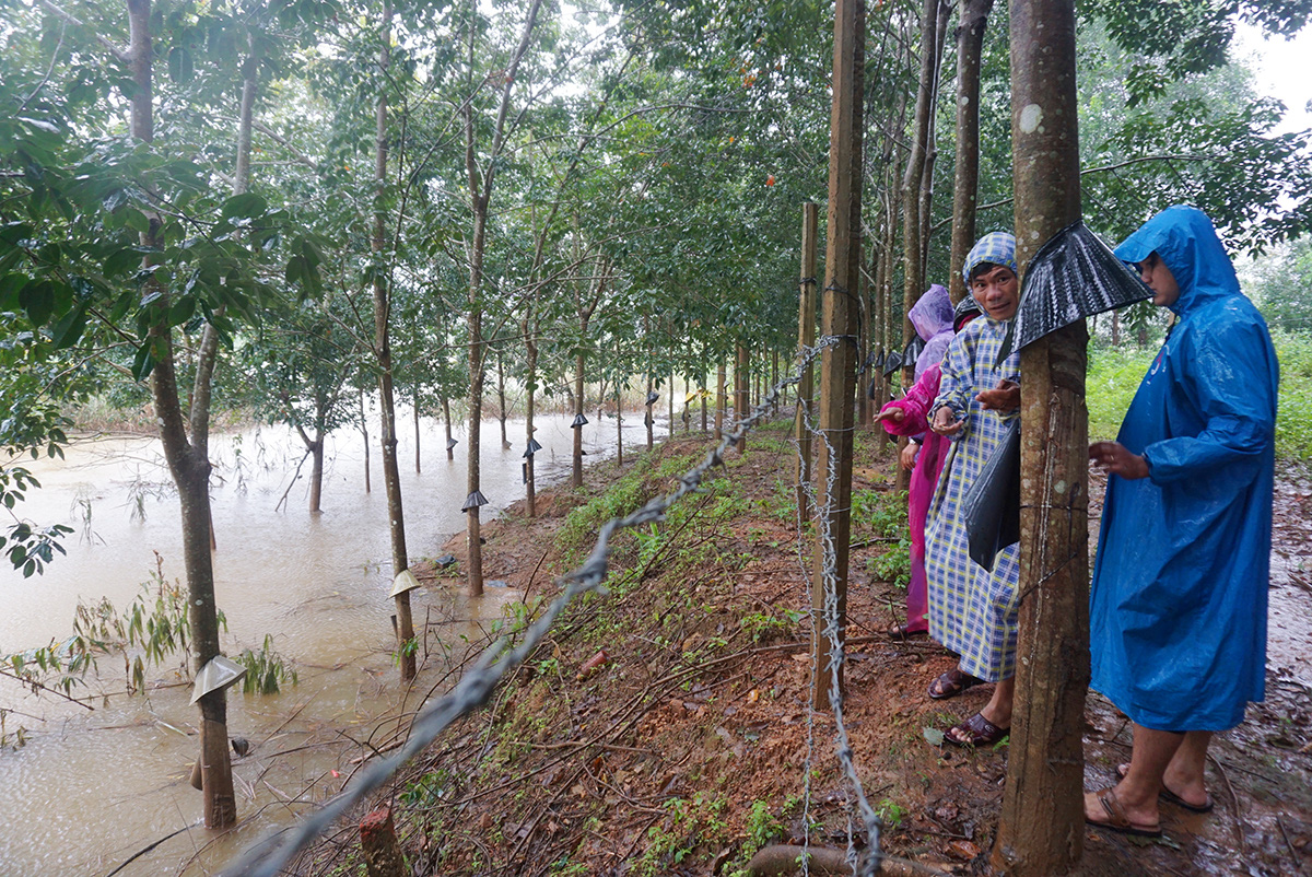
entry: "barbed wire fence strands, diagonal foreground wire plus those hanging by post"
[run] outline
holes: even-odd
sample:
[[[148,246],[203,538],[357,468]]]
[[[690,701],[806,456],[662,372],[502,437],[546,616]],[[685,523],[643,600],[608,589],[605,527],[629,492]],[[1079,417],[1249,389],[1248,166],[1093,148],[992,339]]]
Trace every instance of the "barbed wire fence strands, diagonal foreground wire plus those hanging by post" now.
[[[747,435],[750,433],[750,431],[770,414],[782,398],[785,390],[800,383],[803,372],[827,348],[834,347],[842,340],[842,336],[824,336],[819,339],[813,347],[799,351],[798,365],[792,374],[775,383],[761,403],[752,408],[750,414],[735,424],[735,429],[732,432],[726,432],[723,435],[720,442],[707,453],[706,458],[702,460],[701,463],[681,475],[678,479],[678,487],[668,494],[652,499],[646,505],[625,517],[611,519],[604,524],[597,534],[596,545],[588,558],[576,570],[558,579],[558,582],[563,586],[560,595],[552,600],[542,616],[539,616],[537,621],[529,626],[520,645],[510,649],[509,641],[506,638],[501,638],[485,649],[483,654],[479,655],[474,666],[466,671],[450,692],[419,713],[411,726],[411,734],[404,746],[401,746],[395,754],[382,758],[378,761],[374,761],[369,768],[363,769],[350,786],[329,800],[312,815],[306,817],[295,826],[279,830],[248,847],[236,863],[226,869],[223,874],[226,877],[277,877],[289,864],[291,864],[293,859],[302,849],[304,849],[318,836],[324,834],[337,819],[346,815],[353,807],[380,789],[407,761],[433,744],[455,721],[487,705],[501,680],[533,655],[539,643],[546,638],[548,631],[560,618],[562,613],[564,613],[564,610],[577,597],[588,592],[598,592],[602,595],[607,592],[605,579],[609,572],[611,537],[622,529],[639,528],[659,523],[665,519],[665,512],[681,499],[693,492],[703,492],[701,486],[707,473],[716,466],[723,465],[726,454],[729,449],[747,437]],[[806,414],[802,415],[802,421],[807,432],[815,436],[819,441],[824,442],[828,460],[824,502],[816,502],[816,491],[813,486],[802,486],[803,490],[807,491],[811,508],[815,509],[812,520],[816,526],[816,542],[819,545],[821,558],[819,570],[824,584],[821,618],[816,618],[812,612],[811,624],[812,631],[815,633],[815,630],[819,629],[820,635],[827,639],[829,646],[829,704],[834,716],[836,754],[844,777],[848,784],[850,784],[853,797],[855,798],[854,806],[851,806],[853,802],[849,802],[848,811],[848,861],[851,865],[854,874],[858,877],[871,877],[879,870],[880,861],[884,859],[884,855],[879,848],[883,824],[878,813],[866,798],[865,788],[857,772],[848,727],[844,721],[841,670],[846,660],[846,652],[844,649],[841,613],[836,588],[837,555],[834,550],[834,534],[829,525],[829,521],[836,511],[833,508],[833,496],[838,479],[837,454],[829,441],[827,431],[820,429],[808,416],[806,416]],[[806,571],[804,551],[806,547],[799,508],[798,558],[803,571],[803,580],[808,580],[810,576]],[[819,672],[819,668],[816,668],[815,672],[812,672],[811,683],[812,704],[815,702],[815,685],[819,684],[820,677],[821,674]],[[800,856],[802,872],[804,874],[810,873],[807,864],[808,856],[806,855],[806,851],[810,845],[811,765],[815,759],[815,709],[811,708],[808,709],[807,719],[807,759],[804,765],[806,779],[803,792],[804,835],[802,847],[803,855]],[[857,832],[853,830],[855,819],[859,819],[861,827],[865,832],[865,855],[859,855],[857,851]],[[913,863],[907,864],[913,865]]]

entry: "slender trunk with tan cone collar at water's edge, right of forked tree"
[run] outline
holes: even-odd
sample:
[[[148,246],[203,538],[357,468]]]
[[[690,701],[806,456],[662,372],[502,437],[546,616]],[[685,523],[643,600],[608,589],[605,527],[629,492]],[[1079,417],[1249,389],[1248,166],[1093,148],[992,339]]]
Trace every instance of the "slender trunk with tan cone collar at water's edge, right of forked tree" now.
[[[391,66],[391,3],[383,4],[382,47],[378,63],[380,70]],[[374,234],[370,247],[374,253],[387,248],[386,206],[383,190],[387,185],[387,93],[378,96],[374,130]],[[391,347],[391,290],[382,272],[374,277],[374,356],[378,360],[378,407],[380,410],[380,442],[383,452],[383,487],[387,490],[387,525],[392,546],[392,575],[409,568],[409,554],[405,550],[405,513],[401,503],[401,473],[396,460],[396,399],[392,387],[392,347]],[[411,617],[409,591],[396,595],[396,651],[400,656],[401,679],[415,679],[415,621]]]

